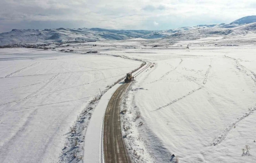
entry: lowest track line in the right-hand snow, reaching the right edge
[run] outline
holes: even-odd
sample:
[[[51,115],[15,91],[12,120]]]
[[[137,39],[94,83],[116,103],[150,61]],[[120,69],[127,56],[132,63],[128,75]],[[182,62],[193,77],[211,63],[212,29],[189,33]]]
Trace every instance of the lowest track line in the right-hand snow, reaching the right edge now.
[[[224,141],[224,139],[226,138],[227,134],[234,128],[234,126],[239,123],[241,120],[243,120],[244,118],[248,117],[249,115],[251,115],[252,113],[254,113],[254,111],[256,111],[256,105],[254,107],[251,107],[249,109],[249,112],[244,113],[243,116],[237,118],[237,120],[235,122],[233,122],[232,124],[229,124],[226,129],[224,131],[222,131],[220,133],[220,135],[213,140],[212,145],[218,145],[220,144],[222,141]]]

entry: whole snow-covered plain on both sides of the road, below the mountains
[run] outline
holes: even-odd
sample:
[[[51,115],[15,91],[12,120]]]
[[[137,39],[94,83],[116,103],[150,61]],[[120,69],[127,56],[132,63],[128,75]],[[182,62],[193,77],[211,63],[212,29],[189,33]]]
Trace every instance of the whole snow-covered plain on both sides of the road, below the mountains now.
[[[63,135],[79,112],[99,89],[141,64],[110,55],[155,63],[136,77],[121,108],[127,109],[122,129],[134,162],[175,162],[172,154],[180,163],[255,162],[255,34],[93,44],[64,48],[73,53],[0,50],[0,162],[58,161],[68,144]],[[90,50],[106,55],[84,54]],[[99,151],[84,141],[86,150]],[[251,149],[242,154],[245,145]]]

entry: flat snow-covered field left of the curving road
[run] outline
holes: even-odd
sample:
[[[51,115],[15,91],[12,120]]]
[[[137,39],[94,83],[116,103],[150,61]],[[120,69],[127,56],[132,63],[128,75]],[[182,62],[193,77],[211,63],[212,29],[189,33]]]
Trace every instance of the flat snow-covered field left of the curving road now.
[[[69,127],[99,89],[140,64],[97,54],[1,49],[0,162],[58,162],[69,148]]]

